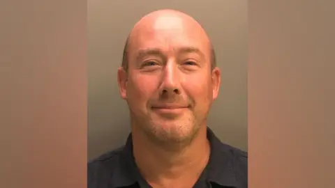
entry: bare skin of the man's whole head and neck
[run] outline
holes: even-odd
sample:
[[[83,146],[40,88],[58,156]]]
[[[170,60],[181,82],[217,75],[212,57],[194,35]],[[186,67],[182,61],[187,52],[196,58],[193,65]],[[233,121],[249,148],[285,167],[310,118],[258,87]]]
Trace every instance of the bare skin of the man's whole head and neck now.
[[[157,10],[128,38],[119,91],[131,111],[133,153],[152,187],[192,187],[209,159],[207,114],[220,70],[202,26],[176,10]]]

